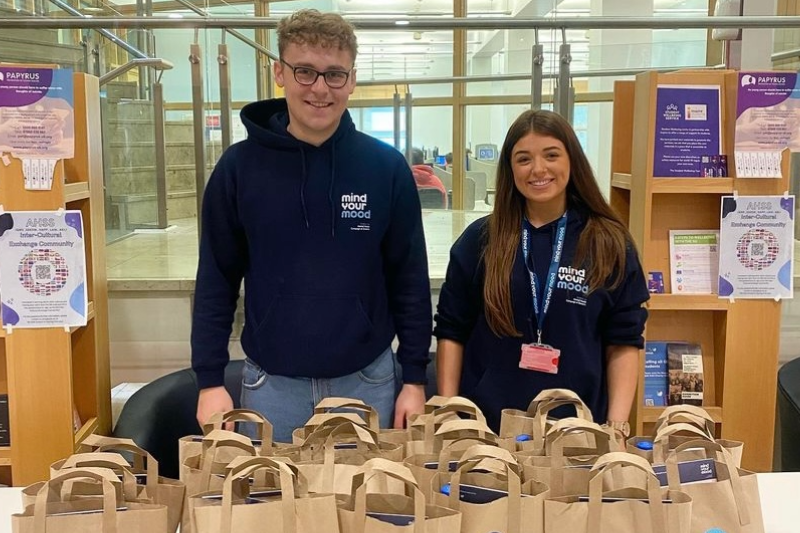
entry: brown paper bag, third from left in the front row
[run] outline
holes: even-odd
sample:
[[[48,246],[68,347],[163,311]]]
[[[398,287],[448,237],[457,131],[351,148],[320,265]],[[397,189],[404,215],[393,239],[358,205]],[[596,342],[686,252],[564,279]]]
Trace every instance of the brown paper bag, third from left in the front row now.
[[[405,490],[381,488],[382,480],[402,482]],[[411,472],[384,459],[366,462],[353,477],[348,498],[339,500],[341,533],[458,533],[461,513],[426,501]]]

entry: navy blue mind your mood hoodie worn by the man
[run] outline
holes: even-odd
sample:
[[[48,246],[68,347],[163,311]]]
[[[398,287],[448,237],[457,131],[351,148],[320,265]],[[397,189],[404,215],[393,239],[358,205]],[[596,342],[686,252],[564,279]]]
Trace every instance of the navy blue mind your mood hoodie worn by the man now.
[[[431,304],[419,196],[403,156],[345,112],[316,147],[287,131],[283,99],[241,113],[245,141],[203,198],[192,368],[223,384],[242,279],[242,347],[267,373],[356,372],[397,334],[403,380],[422,383]]]

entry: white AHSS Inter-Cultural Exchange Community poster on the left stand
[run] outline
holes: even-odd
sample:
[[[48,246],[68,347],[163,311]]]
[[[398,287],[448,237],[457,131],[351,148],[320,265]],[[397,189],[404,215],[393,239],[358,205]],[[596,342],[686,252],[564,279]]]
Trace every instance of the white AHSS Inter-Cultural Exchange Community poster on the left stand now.
[[[85,326],[86,255],[80,211],[0,215],[5,328]]]

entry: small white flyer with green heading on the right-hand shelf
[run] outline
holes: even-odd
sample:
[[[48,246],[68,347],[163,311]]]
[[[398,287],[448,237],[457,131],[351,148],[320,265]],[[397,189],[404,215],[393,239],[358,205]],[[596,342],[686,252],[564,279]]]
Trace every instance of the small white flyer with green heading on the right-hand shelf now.
[[[714,294],[719,265],[718,230],[670,230],[672,294]]]

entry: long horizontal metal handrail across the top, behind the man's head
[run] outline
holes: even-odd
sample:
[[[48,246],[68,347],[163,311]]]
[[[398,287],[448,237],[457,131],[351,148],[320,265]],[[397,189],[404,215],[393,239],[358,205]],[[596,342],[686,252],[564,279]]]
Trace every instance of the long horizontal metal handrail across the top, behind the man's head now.
[[[53,0],[50,0],[53,1]],[[800,16],[759,17],[574,17],[574,18],[452,18],[409,17],[380,20],[348,17],[359,30],[634,30],[634,29],[709,29],[709,28],[798,28]],[[0,28],[143,28],[143,29],[275,29],[278,17],[92,17],[80,20],[54,17],[0,18]]]

